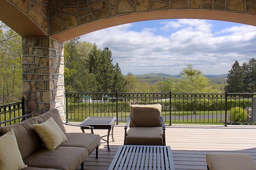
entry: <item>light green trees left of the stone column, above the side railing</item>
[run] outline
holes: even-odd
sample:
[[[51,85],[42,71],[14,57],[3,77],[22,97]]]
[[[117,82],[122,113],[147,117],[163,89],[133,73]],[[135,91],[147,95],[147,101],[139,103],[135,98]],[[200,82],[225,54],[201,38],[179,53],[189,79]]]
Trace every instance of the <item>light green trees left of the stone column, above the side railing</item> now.
[[[21,73],[21,37],[0,22],[0,101],[13,102],[20,100],[22,89]]]

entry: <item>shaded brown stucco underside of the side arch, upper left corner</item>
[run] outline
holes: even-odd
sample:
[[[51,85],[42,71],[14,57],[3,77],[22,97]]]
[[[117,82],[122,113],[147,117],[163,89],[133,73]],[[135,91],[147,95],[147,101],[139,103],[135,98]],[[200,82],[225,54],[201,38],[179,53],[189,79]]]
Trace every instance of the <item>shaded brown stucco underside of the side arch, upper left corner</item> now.
[[[33,21],[6,0],[0,0],[0,20],[21,37],[47,37]]]

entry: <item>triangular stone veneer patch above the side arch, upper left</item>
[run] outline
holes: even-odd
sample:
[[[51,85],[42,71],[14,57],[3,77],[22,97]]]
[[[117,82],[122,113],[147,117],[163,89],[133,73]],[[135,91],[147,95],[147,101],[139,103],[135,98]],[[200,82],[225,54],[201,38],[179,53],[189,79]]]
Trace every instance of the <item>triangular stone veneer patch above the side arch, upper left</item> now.
[[[6,0],[30,18],[49,35],[49,2],[50,0]]]

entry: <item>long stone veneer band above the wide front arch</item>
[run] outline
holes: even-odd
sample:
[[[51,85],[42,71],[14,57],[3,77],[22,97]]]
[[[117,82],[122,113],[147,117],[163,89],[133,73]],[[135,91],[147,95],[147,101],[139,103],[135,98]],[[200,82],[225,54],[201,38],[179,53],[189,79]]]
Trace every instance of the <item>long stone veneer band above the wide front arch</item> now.
[[[256,14],[255,0],[51,0],[50,36],[97,20],[155,10],[197,9]]]

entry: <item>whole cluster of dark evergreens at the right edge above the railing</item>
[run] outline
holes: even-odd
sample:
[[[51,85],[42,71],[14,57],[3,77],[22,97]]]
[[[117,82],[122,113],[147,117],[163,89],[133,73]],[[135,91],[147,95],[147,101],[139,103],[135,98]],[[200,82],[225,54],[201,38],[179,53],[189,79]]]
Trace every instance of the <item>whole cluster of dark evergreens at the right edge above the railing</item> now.
[[[242,65],[235,61],[228,74],[225,89],[229,93],[254,93],[256,91],[256,60],[251,58]]]

